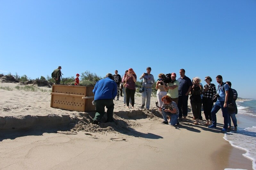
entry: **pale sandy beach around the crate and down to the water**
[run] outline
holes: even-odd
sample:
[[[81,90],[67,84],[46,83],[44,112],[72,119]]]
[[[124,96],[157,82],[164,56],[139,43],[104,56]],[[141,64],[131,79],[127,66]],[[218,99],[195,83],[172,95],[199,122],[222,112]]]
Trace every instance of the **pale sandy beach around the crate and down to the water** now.
[[[0,169],[252,169],[245,151],[233,148],[217,129],[193,114],[177,127],[161,124],[151,98],[149,110],[115,100],[114,123],[92,124],[94,112],[50,107],[50,92],[25,92],[18,84],[0,89]],[[50,90],[49,88],[45,88]],[[204,116],[203,116],[204,117]],[[22,131],[21,131],[21,130]]]

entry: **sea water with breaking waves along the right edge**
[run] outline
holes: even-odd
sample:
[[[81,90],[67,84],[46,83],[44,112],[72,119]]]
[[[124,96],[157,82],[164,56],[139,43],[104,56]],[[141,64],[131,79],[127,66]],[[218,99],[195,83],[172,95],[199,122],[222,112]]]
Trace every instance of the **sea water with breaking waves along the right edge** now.
[[[256,170],[256,100],[236,101],[236,104],[238,129],[225,133],[224,139],[245,150],[244,157],[252,160],[252,168]],[[231,124],[233,126],[232,120]]]

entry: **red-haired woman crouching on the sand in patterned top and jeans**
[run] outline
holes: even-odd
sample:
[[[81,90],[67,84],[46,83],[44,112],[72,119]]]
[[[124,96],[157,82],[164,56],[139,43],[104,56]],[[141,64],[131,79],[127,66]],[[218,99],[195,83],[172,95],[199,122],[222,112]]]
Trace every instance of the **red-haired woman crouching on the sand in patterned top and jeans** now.
[[[171,118],[169,125],[178,125],[179,109],[177,104],[171,100],[169,96],[162,97],[163,104],[159,108],[159,111],[163,114],[163,121],[161,123],[168,124],[167,115]]]

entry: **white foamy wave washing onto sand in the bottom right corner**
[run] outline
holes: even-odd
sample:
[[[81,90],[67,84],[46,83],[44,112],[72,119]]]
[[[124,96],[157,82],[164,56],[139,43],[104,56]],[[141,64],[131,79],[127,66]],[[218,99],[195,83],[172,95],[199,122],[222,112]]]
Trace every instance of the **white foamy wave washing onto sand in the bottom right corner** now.
[[[252,160],[252,168],[256,170],[256,127],[243,130],[231,131],[223,137],[232,146],[246,151],[244,157]]]

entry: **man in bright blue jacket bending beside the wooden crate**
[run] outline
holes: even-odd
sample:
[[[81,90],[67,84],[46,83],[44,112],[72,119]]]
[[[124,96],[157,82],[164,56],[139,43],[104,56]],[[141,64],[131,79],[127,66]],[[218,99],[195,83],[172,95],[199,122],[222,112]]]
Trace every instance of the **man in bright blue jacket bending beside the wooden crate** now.
[[[100,120],[104,116],[105,106],[107,108],[107,122],[113,122],[113,111],[114,103],[113,99],[117,95],[117,85],[116,82],[112,80],[113,75],[108,73],[105,79],[97,81],[93,89],[94,102],[95,102],[95,117],[93,119],[93,124],[99,124]]]

